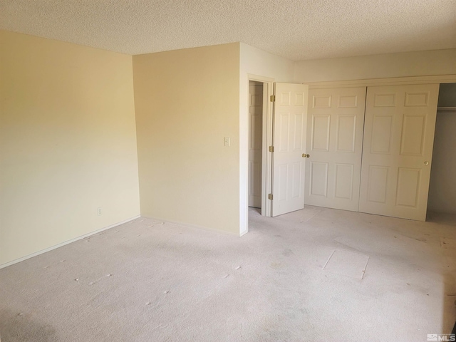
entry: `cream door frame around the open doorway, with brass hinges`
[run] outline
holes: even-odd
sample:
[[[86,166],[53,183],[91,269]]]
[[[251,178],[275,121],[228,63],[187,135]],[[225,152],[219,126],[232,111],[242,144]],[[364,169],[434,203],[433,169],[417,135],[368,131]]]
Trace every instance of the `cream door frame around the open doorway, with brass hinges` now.
[[[269,152],[269,146],[272,145],[272,105],[269,101],[271,95],[274,94],[274,79],[264,76],[247,74],[247,89],[249,89],[250,81],[263,83],[263,114],[261,127],[261,216],[271,216],[271,201],[268,199],[268,194],[271,193],[272,182],[272,153]],[[249,91],[247,91],[249,96]],[[247,113],[249,113],[249,100],[247,100]],[[247,141],[250,135],[250,120],[247,119]],[[249,145],[247,144],[247,155],[249,153]],[[247,192],[248,192],[247,187]],[[247,202],[247,210],[249,203]]]

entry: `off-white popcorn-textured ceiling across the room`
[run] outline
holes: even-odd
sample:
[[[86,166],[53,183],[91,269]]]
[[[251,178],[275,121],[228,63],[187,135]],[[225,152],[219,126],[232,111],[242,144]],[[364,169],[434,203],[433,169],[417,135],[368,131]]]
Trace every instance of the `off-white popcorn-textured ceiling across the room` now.
[[[0,0],[0,28],[132,55],[242,41],[301,61],[456,48],[456,0]]]

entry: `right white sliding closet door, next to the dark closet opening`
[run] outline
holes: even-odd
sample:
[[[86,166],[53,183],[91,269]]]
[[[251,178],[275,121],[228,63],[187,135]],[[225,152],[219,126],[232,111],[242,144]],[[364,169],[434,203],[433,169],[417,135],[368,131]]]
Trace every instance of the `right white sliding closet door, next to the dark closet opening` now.
[[[359,210],[426,219],[439,85],[368,87]]]

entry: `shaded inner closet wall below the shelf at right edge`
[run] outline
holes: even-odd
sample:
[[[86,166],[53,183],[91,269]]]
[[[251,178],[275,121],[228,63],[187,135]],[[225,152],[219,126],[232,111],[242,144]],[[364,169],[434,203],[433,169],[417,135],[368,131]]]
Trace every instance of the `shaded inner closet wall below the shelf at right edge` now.
[[[456,110],[437,111],[427,209],[456,214]]]

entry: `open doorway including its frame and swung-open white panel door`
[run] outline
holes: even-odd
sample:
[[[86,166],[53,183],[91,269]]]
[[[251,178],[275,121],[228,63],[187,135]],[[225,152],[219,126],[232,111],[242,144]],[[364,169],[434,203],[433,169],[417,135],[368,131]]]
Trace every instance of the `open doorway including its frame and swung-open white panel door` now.
[[[266,217],[303,209],[309,87],[261,78],[249,78],[248,86],[248,206]]]

